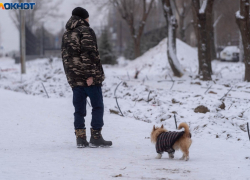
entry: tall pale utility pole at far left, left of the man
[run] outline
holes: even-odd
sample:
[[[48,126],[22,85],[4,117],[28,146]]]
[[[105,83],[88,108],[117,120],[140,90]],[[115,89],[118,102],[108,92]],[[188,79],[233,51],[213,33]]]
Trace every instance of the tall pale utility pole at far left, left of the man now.
[[[23,3],[23,0],[19,0]],[[20,9],[20,60],[21,60],[21,73],[26,73],[25,61],[26,61],[26,36],[25,36],[25,11]]]

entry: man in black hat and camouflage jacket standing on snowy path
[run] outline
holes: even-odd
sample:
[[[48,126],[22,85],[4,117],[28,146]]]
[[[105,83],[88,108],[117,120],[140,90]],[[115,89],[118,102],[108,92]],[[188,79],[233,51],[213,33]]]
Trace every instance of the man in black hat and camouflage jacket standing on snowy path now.
[[[62,60],[69,85],[73,90],[75,107],[74,126],[77,147],[111,146],[111,141],[102,138],[103,97],[102,82],[104,72],[100,62],[96,35],[89,27],[88,12],[77,7],[66,24],[66,32],[62,38]],[[91,138],[86,140],[85,119],[86,98],[92,105]]]

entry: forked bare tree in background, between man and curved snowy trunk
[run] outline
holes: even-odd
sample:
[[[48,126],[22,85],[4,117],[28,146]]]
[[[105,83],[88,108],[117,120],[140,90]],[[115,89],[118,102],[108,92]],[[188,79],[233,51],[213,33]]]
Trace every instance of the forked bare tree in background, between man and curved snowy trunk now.
[[[141,36],[154,0],[150,0],[149,3],[146,0],[110,0],[110,2],[128,24],[134,43],[134,55],[135,58],[139,57],[141,55]],[[140,13],[142,15],[138,17]],[[139,20],[138,25],[137,20]]]

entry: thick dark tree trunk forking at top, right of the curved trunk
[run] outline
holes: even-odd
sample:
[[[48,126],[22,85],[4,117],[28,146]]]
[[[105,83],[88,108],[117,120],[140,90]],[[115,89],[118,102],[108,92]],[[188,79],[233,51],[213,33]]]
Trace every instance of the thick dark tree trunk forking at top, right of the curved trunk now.
[[[198,39],[199,74],[202,80],[211,80],[211,42],[207,26],[207,14],[213,9],[214,0],[192,0],[195,31]]]

